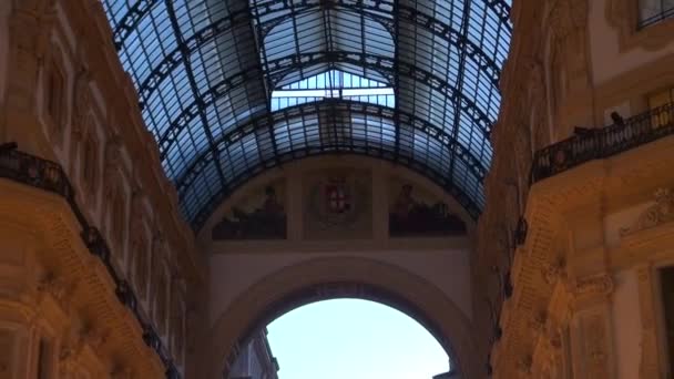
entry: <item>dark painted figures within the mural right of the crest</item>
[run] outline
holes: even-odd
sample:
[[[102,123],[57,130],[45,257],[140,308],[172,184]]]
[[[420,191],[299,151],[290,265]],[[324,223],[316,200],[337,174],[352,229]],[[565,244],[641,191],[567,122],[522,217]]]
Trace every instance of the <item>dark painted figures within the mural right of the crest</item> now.
[[[391,206],[389,234],[400,236],[438,236],[466,233],[466,224],[448,212],[447,204],[428,205],[415,199],[413,187],[405,184]]]

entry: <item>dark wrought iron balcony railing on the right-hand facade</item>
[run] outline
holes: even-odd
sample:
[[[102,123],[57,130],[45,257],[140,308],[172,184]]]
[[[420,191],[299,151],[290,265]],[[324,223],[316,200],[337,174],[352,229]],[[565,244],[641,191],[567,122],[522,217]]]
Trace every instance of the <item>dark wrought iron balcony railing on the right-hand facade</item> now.
[[[533,156],[535,183],[592,160],[605,158],[674,134],[674,103],[637,114],[603,129],[584,130],[539,150]]]

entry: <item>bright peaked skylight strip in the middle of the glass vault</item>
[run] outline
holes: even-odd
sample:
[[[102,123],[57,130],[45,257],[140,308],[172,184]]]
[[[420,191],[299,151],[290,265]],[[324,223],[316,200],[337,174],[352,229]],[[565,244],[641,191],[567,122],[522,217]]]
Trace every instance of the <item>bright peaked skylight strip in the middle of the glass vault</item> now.
[[[348,72],[330,70],[272,92],[272,111],[325,99],[396,106],[392,86]]]

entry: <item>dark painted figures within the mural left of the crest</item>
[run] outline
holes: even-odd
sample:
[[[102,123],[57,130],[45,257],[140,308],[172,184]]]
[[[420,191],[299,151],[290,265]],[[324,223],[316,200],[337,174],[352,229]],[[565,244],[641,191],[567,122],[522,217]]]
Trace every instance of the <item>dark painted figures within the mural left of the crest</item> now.
[[[265,199],[253,212],[232,207],[233,217],[225,216],[213,228],[213,239],[285,239],[286,215],[273,186],[265,188]]]

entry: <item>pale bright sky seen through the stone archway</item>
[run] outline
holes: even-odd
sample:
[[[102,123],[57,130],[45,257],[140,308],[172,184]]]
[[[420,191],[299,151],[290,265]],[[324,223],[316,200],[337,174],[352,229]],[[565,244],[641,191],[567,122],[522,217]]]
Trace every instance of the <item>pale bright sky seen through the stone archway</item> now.
[[[428,330],[378,303],[314,303],[267,329],[280,379],[430,379],[449,369]]]

